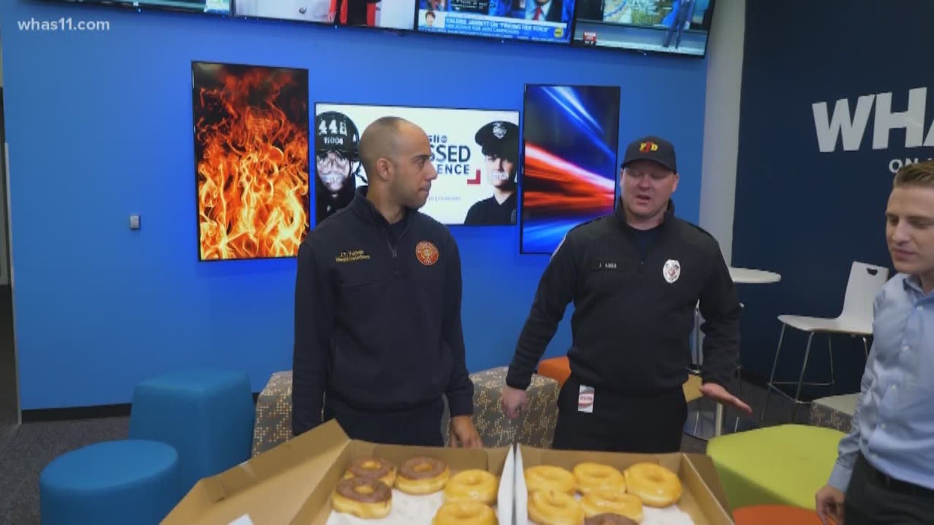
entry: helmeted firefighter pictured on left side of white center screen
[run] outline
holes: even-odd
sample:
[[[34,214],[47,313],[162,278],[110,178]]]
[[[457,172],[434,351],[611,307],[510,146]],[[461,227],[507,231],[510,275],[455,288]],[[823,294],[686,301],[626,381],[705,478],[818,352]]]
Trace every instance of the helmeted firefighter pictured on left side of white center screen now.
[[[331,217],[353,200],[360,171],[360,134],[343,113],[315,119],[315,220]]]

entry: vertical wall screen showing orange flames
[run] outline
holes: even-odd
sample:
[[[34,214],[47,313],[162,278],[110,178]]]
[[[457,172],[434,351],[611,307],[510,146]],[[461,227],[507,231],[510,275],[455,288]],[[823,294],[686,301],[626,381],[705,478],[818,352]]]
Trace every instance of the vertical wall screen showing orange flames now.
[[[191,63],[199,261],[294,257],[309,227],[308,70]]]

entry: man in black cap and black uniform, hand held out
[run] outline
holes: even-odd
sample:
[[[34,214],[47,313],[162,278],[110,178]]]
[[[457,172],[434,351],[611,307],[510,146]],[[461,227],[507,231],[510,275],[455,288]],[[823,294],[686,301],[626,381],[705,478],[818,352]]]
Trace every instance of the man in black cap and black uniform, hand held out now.
[[[740,303],[720,248],[674,217],[674,147],[646,136],[626,150],[616,212],[573,228],[552,255],[509,366],[502,405],[515,418],[532,372],[572,300],[571,377],[553,447],[673,452],[687,408],[694,308],[706,322],[704,395],[751,413],[726,390],[739,354]]]

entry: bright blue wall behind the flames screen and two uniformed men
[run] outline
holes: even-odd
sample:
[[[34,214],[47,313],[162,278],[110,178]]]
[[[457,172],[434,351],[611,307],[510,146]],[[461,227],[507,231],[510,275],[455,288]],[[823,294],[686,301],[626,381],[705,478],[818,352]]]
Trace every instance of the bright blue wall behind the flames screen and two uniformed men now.
[[[290,368],[294,260],[198,263],[191,60],[306,67],[311,100],[521,109],[526,82],[622,86],[620,142],[679,148],[697,220],[706,64],[174,13],[0,0],[24,409],[127,403],[188,364]],[[17,21],[110,21],[99,33]],[[325,51],[325,48],[331,51]],[[128,216],[142,216],[131,231]],[[467,364],[509,362],[547,256],[517,228],[458,228]],[[567,319],[567,318],[566,318]],[[567,320],[548,350],[570,345]]]

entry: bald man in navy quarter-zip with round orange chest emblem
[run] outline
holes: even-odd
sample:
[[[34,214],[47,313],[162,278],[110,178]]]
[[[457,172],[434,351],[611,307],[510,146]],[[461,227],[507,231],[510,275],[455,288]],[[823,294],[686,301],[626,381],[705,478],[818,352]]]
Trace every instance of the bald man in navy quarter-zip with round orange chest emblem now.
[[[360,141],[368,186],[298,254],[292,433],[337,419],[374,443],[480,447],[460,326],[460,253],[418,212],[438,177],[428,136],[387,117]]]

